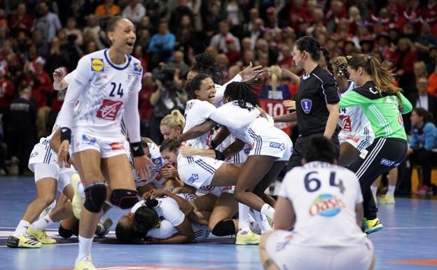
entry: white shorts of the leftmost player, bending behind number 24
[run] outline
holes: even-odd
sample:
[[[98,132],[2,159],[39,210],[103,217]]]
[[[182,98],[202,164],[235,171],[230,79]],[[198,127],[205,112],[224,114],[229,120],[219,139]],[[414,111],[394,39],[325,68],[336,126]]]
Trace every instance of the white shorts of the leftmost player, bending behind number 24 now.
[[[57,166],[57,154],[50,147],[50,141],[46,138],[41,138],[40,142],[35,144],[34,149],[32,149],[29,156],[29,170],[35,173],[34,166],[37,163],[50,164],[59,168],[59,166]]]

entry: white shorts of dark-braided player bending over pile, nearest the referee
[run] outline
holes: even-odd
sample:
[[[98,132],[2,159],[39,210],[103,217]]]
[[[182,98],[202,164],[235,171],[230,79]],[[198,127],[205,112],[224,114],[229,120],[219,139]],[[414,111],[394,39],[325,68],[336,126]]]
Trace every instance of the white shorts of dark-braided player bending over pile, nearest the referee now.
[[[272,127],[256,134],[249,129],[249,136],[254,139],[249,156],[275,156],[278,161],[289,161],[293,142],[284,131]]]

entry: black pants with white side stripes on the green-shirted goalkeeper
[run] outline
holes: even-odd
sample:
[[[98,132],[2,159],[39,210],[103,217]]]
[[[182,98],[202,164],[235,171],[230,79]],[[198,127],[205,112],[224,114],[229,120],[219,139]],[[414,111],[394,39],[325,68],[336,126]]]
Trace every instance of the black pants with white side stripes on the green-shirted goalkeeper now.
[[[408,144],[406,140],[397,138],[377,138],[366,149],[366,157],[352,162],[347,168],[352,170],[358,178],[363,193],[364,217],[374,220],[377,207],[370,185],[383,173],[397,167],[407,156]]]

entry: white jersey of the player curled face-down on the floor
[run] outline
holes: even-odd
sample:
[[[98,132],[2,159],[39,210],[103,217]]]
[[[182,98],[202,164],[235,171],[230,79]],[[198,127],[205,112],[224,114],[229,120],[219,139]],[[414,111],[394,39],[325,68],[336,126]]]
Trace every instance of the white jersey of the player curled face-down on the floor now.
[[[158,214],[158,218],[160,220],[167,220],[174,227],[179,226],[183,220],[185,219],[185,215],[181,209],[179,209],[179,204],[174,201],[173,198],[163,196],[160,198],[156,198],[158,200],[158,206],[153,208]],[[135,203],[134,207],[130,210],[130,212],[137,211],[138,208],[145,205],[146,201],[141,200],[138,203]]]

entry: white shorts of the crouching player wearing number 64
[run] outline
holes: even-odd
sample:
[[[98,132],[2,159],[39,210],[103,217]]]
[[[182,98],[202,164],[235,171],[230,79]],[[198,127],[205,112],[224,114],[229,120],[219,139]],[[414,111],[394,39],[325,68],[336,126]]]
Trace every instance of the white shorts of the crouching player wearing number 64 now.
[[[265,250],[281,270],[368,270],[373,259],[373,244],[317,247],[293,244],[293,232],[274,231]],[[353,266],[353,267],[352,267]]]

